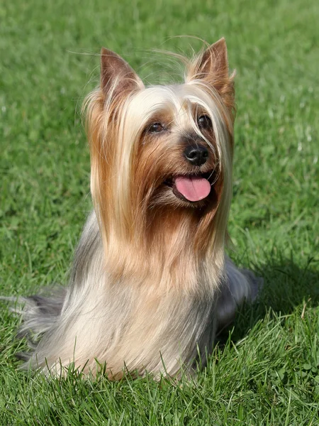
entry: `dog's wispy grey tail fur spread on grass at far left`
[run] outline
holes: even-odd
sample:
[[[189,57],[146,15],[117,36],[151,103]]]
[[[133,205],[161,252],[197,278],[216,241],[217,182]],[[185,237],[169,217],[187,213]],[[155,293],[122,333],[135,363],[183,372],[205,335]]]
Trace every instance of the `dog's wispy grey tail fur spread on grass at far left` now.
[[[65,288],[55,288],[50,296],[42,293],[29,297],[0,297],[0,300],[11,302],[11,311],[21,317],[17,336],[20,339],[26,337],[30,349],[35,349],[40,337],[55,326],[62,312],[66,293]],[[32,351],[20,352],[16,356],[28,361],[31,354]]]

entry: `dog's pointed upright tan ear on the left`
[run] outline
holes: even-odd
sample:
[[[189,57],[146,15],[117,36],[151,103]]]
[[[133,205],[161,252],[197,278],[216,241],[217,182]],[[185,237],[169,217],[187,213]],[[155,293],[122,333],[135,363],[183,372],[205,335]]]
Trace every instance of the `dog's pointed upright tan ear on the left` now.
[[[121,56],[101,48],[101,89],[106,96],[142,89],[144,84]]]

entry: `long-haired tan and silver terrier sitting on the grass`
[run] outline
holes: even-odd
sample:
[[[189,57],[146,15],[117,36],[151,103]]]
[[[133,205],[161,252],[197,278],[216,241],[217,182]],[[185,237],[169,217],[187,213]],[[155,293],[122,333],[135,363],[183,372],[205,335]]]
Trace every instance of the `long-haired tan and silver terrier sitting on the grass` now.
[[[84,109],[94,210],[67,288],[23,299],[24,365],[178,378],[205,365],[216,333],[259,288],[225,255],[235,120],[225,39],[167,86],[145,87],[102,48]]]

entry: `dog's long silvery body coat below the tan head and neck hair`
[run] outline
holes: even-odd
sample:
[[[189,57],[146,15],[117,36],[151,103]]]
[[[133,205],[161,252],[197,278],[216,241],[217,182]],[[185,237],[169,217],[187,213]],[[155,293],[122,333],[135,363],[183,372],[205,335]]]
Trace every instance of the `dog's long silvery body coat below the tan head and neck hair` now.
[[[200,356],[205,364],[216,331],[233,320],[243,300],[257,295],[258,279],[226,258],[227,279],[216,294],[167,294],[152,300],[150,292],[152,317],[145,321],[143,312],[149,309],[143,306],[145,297],[140,297],[138,288],[107,284],[103,254],[99,225],[92,212],[79,241],[67,290],[61,289],[52,297],[24,299],[21,333],[32,331],[33,336],[41,337],[30,355],[26,354],[27,366],[43,371],[48,366],[61,373],[61,366],[74,361],[75,366],[92,371],[97,359],[106,361],[114,377],[121,374],[124,362],[128,370],[136,369],[140,374],[146,370],[176,375],[181,360],[184,366],[194,366]]]

